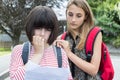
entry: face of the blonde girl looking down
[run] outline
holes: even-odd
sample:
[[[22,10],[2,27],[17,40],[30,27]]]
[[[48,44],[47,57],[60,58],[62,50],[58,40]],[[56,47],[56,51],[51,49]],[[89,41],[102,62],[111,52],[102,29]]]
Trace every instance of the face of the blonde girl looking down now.
[[[82,8],[72,4],[66,14],[68,27],[72,30],[79,30],[85,20],[85,12]]]

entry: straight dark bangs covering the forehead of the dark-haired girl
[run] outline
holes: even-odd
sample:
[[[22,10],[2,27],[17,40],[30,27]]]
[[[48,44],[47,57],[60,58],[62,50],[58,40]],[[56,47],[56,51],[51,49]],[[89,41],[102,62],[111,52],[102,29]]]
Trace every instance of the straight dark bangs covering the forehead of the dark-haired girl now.
[[[34,28],[54,29],[54,21],[47,13],[38,14],[33,23]]]

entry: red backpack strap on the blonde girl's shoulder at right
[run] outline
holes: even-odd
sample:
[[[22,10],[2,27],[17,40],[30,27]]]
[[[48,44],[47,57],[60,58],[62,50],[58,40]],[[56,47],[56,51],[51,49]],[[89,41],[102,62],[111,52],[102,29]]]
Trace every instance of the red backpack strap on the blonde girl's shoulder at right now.
[[[85,41],[85,53],[87,55],[87,61],[89,62],[93,54],[93,48],[94,48],[94,42],[95,42],[96,36],[100,31],[101,29],[96,26],[96,27],[93,27],[87,35],[87,39]]]

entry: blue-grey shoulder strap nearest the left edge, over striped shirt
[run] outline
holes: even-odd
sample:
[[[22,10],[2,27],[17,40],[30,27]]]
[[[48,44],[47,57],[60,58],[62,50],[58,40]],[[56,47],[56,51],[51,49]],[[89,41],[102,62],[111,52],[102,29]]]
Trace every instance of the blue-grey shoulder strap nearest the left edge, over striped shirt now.
[[[23,50],[22,50],[22,59],[23,59],[24,65],[28,61],[28,56],[30,54],[30,48],[31,48],[31,43],[29,41],[24,42],[24,44],[23,44]]]

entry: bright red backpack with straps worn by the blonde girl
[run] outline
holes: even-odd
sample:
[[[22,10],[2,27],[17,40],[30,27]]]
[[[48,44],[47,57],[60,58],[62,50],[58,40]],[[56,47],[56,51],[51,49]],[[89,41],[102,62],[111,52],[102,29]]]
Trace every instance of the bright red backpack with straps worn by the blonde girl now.
[[[88,62],[91,60],[94,48],[93,45],[99,32],[102,32],[99,27],[93,27],[87,35],[87,39],[85,41],[85,53],[87,55]],[[61,39],[65,39],[66,34],[67,33],[64,32],[61,36]],[[112,80],[114,77],[114,68],[110,58],[110,53],[104,42],[102,42],[101,47],[101,62],[99,67],[100,77],[102,80]]]

